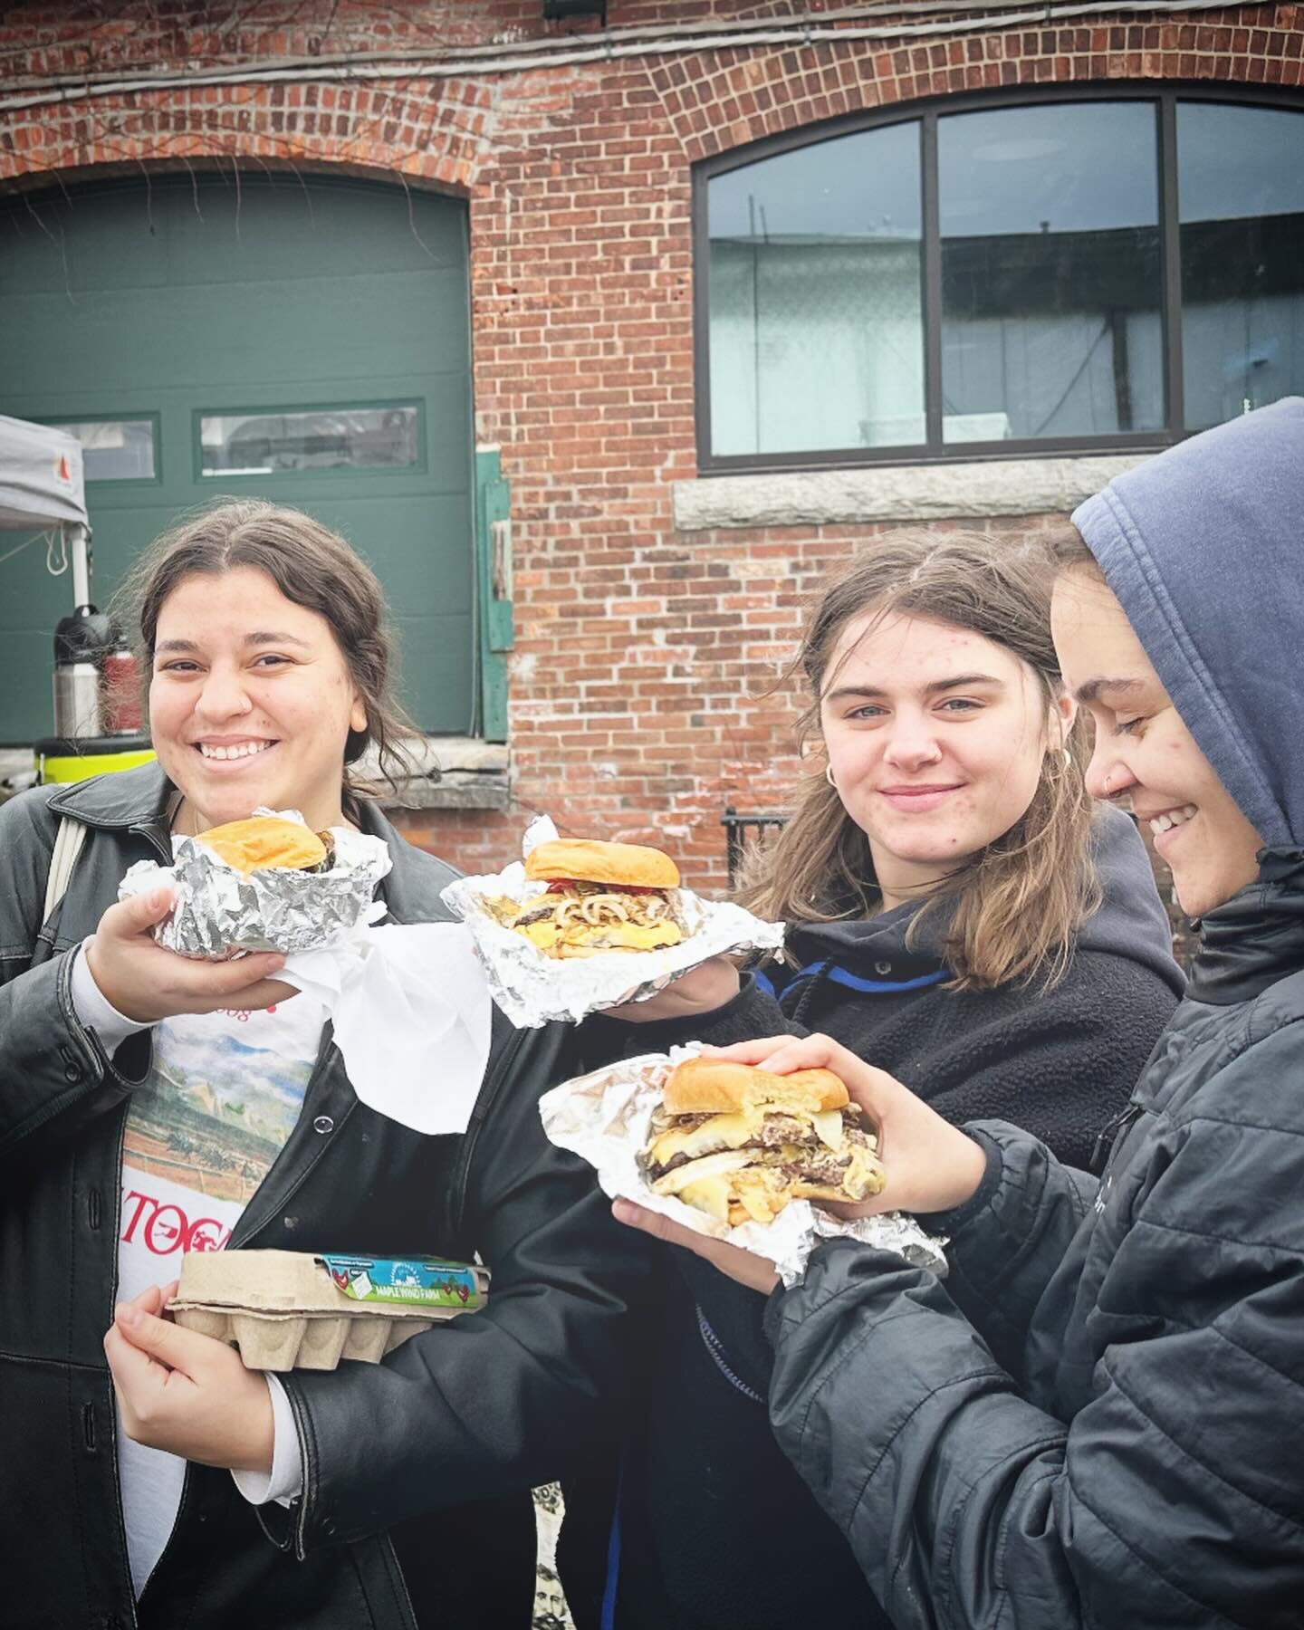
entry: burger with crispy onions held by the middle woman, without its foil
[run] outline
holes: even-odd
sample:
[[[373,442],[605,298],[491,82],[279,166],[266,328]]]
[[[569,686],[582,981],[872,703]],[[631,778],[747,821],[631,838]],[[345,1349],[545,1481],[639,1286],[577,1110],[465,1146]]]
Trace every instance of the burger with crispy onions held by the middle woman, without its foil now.
[[[678,887],[680,869],[660,849],[557,838],[530,851],[525,875],[548,883],[543,898],[523,906],[515,900],[486,900],[486,906],[546,957],[659,950],[685,937],[685,924],[667,893]]]

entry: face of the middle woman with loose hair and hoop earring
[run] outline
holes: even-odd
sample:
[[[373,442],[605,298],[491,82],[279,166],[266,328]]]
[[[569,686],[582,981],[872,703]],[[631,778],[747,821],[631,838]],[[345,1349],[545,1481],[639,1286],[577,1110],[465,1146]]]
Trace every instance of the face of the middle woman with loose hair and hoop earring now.
[[[1033,670],[981,634],[874,611],[848,623],[820,725],[885,906],[927,893],[1025,813],[1061,745],[1048,716]]]

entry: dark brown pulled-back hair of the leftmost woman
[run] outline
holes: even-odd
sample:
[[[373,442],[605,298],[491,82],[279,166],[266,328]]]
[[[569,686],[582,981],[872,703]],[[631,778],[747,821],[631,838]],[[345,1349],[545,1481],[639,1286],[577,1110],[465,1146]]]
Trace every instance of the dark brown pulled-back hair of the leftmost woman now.
[[[139,629],[137,657],[147,693],[153,673],[158,613],[176,585],[192,572],[230,572],[251,566],[266,572],[287,600],[323,616],[336,637],[367,709],[367,727],[350,730],[344,763],[354,764],[375,745],[390,787],[408,771],[403,737],[416,735],[393,696],[393,639],[385,595],[375,572],[337,533],[303,510],[266,499],[218,499],[165,531],[132,566],[114,597],[114,615]],[[377,787],[346,774],[347,792]]]

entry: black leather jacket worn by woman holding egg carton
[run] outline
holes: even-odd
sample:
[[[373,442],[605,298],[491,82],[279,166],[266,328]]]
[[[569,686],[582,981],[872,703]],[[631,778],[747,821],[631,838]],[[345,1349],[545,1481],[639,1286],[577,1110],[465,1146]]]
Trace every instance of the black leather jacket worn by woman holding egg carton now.
[[[478,1250],[494,1275],[487,1311],[383,1364],[287,1376],[302,1498],[289,1513],[253,1508],[228,1472],[189,1467],[170,1545],[132,1601],[101,1341],[122,1126],[150,1042],[145,1032],[104,1055],[73,1014],[67,950],[95,931],[134,861],[170,857],[168,794],[148,766],[0,807],[0,1620],[7,1630],[526,1625],[528,1490],[557,1477],[569,1444],[593,1426],[642,1250],[610,1219],[588,1167],[543,1136],[536,1100],[572,1073],[574,1032],[517,1032],[497,1012],[461,1136],[421,1136],[359,1104],[328,1029],[303,1113],[230,1240]],[[90,833],[42,924],[62,813]],[[375,807],[363,805],[362,823],[390,843],[390,919],[447,918],[448,867]]]

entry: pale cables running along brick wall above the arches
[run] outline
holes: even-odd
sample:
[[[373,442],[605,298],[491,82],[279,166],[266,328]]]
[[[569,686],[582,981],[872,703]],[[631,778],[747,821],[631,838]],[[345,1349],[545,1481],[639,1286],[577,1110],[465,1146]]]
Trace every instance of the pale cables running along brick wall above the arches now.
[[[1267,8],[1267,0],[1252,0],[1260,8]],[[333,83],[333,82],[368,82],[368,80],[445,80],[474,78],[486,73],[526,73],[538,68],[577,67],[588,62],[613,62],[632,57],[665,57],[706,51],[740,51],[743,47],[789,46],[794,34],[800,44],[838,44],[859,39],[944,39],[957,34],[983,34],[993,29],[1024,28],[1029,24],[1045,26],[1074,16],[1118,16],[1128,15],[1161,15],[1175,16],[1187,11],[1224,11],[1226,0],[1097,0],[1094,5],[1040,5],[1025,11],[996,11],[980,16],[967,15],[954,21],[903,23],[893,26],[828,26],[813,23],[810,16],[787,18],[778,23],[766,23],[761,28],[748,24],[711,24],[709,33],[693,33],[701,24],[676,24],[673,29],[647,29],[647,39],[629,39],[623,29],[606,29],[585,34],[582,47],[566,46],[556,49],[553,41],[520,46],[473,46],[455,57],[432,55],[424,49],[390,51],[383,54],[367,54],[346,57],[337,62],[323,62],[321,57],[277,59],[279,67],[262,68],[200,68],[189,73],[163,72],[137,75],[134,78],[101,78],[96,75],[80,77],[75,83],[51,85],[47,90],[34,90],[29,95],[7,96],[0,99],[0,112],[18,112],[28,108],[49,108],[62,103],[83,101],[88,96],[127,96],[139,91],[184,90],[196,85],[277,85],[293,82],[298,85]],[[874,7],[859,10],[857,15],[895,15],[911,10],[906,5]],[[929,8],[931,10],[931,8]],[[971,7],[965,11],[971,13]],[[833,13],[822,13],[823,16]],[[729,29],[735,29],[729,33]],[[642,29],[631,31],[642,34]],[[414,70],[416,65],[416,70]]]

